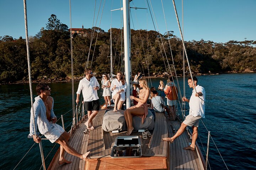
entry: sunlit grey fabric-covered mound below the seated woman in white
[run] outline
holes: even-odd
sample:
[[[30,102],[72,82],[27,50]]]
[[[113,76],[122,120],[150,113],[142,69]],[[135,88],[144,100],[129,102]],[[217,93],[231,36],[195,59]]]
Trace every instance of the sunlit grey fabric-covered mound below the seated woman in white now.
[[[124,111],[107,110],[103,116],[102,129],[106,132],[113,130],[126,130]]]

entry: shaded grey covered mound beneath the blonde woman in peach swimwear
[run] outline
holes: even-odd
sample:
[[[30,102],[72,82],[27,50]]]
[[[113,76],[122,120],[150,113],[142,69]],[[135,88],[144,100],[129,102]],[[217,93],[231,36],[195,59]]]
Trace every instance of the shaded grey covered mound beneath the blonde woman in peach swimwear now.
[[[139,129],[153,130],[154,127],[155,127],[154,115],[149,109],[148,109],[148,115],[146,116],[143,124],[142,124],[142,118],[138,116],[133,117],[134,130],[139,130]]]

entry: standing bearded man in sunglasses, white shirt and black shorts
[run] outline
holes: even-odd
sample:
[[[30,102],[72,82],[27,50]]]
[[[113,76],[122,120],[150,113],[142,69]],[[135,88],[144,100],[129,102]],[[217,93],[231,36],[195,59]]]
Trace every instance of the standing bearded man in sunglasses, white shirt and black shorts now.
[[[87,129],[94,129],[92,119],[96,116],[100,110],[100,102],[97,94],[97,90],[100,89],[100,84],[97,79],[93,76],[91,68],[86,68],[85,78],[80,80],[78,85],[78,91],[76,92],[76,103],[79,103],[79,96],[82,90],[82,95],[84,97],[85,110],[88,114],[88,120],[85,122]],[[93,112],[92,112],[93,111]],[[91,123],[91,128],[89,128],[89,123]]]

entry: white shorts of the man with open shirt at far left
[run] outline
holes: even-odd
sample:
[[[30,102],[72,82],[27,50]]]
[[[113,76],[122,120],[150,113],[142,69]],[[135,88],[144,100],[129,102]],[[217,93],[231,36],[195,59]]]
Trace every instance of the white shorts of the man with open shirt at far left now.
[[[57,139],[60,137],[60,135],[62,135],[65,130],[58,124],[53,124],[52,122],[50,122],[53,126],[53,129],[46,132],[44,134],[44,136],[49,139],[50,142],[54,143],[55,141],[57,141]]]

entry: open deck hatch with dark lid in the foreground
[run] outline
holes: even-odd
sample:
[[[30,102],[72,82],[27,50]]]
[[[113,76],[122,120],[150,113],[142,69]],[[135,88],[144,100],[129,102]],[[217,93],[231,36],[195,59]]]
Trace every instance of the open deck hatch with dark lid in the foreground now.
[[[139,158],[142,156],[139,136],[118,136],[111,151],[111,158]]]

